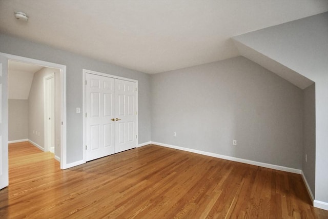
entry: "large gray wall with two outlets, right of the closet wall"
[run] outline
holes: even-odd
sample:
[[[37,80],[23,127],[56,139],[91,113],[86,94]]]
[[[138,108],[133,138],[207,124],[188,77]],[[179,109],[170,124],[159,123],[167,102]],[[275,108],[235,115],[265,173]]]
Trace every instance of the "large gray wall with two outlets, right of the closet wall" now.
[[[249,59],[151,75],[151,92],[152,141],[301,169],[302,90]]]

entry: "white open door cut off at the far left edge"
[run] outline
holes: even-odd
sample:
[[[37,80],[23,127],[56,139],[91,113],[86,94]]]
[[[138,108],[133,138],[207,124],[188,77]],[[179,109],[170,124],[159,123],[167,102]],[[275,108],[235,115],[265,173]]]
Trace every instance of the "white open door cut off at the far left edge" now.
[[[8,178],[8,58],[0,55],[0,189]]]

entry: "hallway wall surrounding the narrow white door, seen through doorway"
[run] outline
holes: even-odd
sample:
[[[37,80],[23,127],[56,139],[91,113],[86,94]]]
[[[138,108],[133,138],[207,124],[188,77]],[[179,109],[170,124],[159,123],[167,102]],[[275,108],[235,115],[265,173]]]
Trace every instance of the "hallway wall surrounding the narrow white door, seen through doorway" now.
[[[53,68],[42,68],[34,73],[29,93],[29,140],[44,149],[44,77],[55,74],[55,155],[60,157],[60,71]],[[34,132],[33,132],[34,131]],[[59,141],[60,142],[60,141]]]

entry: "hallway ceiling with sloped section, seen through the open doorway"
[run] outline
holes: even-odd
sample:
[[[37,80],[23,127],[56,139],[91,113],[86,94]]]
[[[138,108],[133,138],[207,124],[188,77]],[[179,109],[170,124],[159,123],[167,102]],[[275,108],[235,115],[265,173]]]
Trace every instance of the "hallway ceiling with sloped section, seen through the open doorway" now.
[[[28,99],[33,75],[43,66],[21,62],[8,62],[8,98]]]

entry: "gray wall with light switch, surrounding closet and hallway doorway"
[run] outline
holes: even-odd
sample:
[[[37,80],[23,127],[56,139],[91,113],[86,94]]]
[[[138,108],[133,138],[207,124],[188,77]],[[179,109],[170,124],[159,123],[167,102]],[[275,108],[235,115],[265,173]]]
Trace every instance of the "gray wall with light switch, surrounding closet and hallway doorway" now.
[[[0,45],[0,52],[3,53],[67,66],[67,163],[83,160],[83,115],[76,113],[76,107],[83,107],[83,69],[138,80],[139,144],[150,141],[150,76],[148,74],[5,34],[0,34]]]

